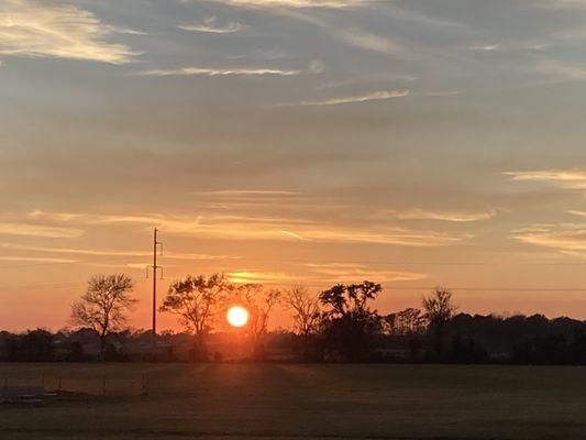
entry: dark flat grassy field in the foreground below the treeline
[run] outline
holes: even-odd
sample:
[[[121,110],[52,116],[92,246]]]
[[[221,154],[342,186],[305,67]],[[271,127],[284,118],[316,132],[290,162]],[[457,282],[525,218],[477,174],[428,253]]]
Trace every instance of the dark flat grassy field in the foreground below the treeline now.
[[[0,364],[106,396],[0,407],[0,439],[583,439],[586,369]],[[147,396],[141,392],[141,374]]]

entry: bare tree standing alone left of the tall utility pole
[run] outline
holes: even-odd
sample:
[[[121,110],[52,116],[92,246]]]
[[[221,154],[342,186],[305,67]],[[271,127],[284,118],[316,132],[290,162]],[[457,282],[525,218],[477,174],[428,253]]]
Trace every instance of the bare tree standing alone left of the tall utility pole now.
[[[130,294],[134,282],[124,274],[95,275],[79,300],[71,305],[71,323],[89,327],[100,337],[102,359],[106,354],[106,337],[126,323],[126,314],[136,299]]]

